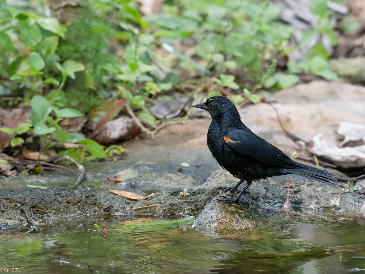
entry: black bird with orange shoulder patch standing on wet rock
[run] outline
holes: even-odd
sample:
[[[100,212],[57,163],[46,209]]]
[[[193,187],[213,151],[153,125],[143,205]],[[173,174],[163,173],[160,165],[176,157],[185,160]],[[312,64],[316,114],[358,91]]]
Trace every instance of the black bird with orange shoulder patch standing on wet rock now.
[[[297,163],[276,146],[258,137],[242,123],[230,99],[213,96],[193,107],[206,110],[212,116],[207,135],[209,150],[221,167],[240,180],[234,187],[217,189],[237,191],[246,180],[246,186],[237,196],[221,196],[218,201],[237,202],[253,181],[277,175],[297,174],[323,183],[337,182],[330,172]]]

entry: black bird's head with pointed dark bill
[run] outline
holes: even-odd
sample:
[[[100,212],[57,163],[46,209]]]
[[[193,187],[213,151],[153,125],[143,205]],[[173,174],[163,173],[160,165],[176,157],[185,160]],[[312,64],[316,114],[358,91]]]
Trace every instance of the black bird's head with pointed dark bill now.
[[[224,96],[213,96],[208,98],[205,102],[196,104],[198,109],[203,109],[208,111],[212,118],[217,120],[235,120],[241,117],[239,116],[238,110],[234,103],[230,99]]]

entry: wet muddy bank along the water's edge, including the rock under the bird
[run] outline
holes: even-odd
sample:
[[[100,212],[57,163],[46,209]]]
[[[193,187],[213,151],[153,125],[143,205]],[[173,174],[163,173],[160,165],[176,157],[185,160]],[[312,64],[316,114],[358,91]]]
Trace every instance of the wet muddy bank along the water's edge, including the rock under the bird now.
[[[213,231],[255,228],[267,222],[271,214],[283,214],[287,198],[288,180],[294,178],[290,190],[290,210],[297,212],[314,210],[318,216],[351,217],[360,208],[364,199],[354,193],[340,194],[338,207],[326,209],[342,191],[340,185],[328,186],[308,181],[298,176],[277,176],[250,187],[250,195],[241,202],[224,204],[216,202],[221,193],[214,190],[217,185],[233,185],[235,179],[226,171],[217,170],[203,184],[204,188],[188,189],[189,195],[181,190],[164,190],[146,200],[133,201],[104,190],[70,190],[63,187],[47,189],[22,187],[2,189],[0,192],[0,229],[22,228],[29,225],[23,215],[25,209],[40,228],[50,233],[69,229],[94,229],[93,224],[104,225],[112,221],[135,218],[181,218],[195,215],[194,227]],[[146,195],[143,191],[135,193]],[[235,195],[227,193],[228,195]],[[155,205],[150,208],[135,209]],[[281,212],[280,212],[281,210]],[[299,213],[300,214],[300,213]],[[305,214],[304,214],[305,215]],[[308,215],[311,216],[311,215]],[[318,217],[317,216],[317,217]]]

